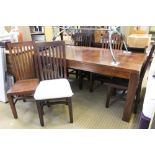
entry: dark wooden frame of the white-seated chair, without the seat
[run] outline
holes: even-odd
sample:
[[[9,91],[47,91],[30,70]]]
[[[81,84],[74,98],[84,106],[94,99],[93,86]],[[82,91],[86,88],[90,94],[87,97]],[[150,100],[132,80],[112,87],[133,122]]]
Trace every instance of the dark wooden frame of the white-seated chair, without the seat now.
[[[64,41],[36,43],[36,55],[41,81],[66,78],[66,52]],[[65,90],[64,90],[65,91]],[[60,102],[61,101],[61,102]],[[73,123],[71,97],[60,99],[36,100],[41,126],[44,126],[43,106],[63,103],[68,105],[70,123]]]

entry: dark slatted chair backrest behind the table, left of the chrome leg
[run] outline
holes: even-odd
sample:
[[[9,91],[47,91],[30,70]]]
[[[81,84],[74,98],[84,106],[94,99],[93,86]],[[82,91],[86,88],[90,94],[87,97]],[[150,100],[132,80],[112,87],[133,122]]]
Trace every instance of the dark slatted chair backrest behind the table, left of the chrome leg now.
[[[74,45],[75,46],[87,46],[91,47],[92,33],[79,32],[74,34]]]

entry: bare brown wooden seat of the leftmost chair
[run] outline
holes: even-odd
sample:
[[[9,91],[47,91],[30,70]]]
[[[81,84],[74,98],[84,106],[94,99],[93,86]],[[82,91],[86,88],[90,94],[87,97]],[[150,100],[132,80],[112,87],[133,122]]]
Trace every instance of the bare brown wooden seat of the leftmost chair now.
[[[25,93],[33,93],[38,84],[38,79],[19,80],[7,91],[7,94],[21,95]]]

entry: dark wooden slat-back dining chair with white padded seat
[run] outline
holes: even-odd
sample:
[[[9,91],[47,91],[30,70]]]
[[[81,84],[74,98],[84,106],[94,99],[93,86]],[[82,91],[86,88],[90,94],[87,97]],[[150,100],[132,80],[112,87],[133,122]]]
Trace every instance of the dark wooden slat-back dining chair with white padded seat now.
[[[35,50],[40,83],[36,88],[34,98],[41,126],[44,126],[43,106],[61,103],[68,106],[70,123],[73,123],[73,92],[66,74],[65,42],[36,43]]]

